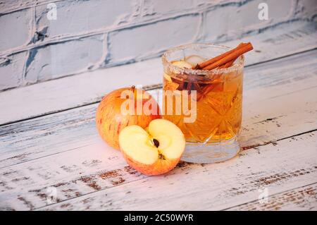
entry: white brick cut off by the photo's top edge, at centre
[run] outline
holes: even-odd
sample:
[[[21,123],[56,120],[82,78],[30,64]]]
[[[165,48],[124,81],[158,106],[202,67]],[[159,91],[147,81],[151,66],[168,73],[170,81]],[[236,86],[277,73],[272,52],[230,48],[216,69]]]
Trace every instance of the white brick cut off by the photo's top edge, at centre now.
[[[194,7],[194,0],[144,0],[142,16],[160,16],[186,11]]]

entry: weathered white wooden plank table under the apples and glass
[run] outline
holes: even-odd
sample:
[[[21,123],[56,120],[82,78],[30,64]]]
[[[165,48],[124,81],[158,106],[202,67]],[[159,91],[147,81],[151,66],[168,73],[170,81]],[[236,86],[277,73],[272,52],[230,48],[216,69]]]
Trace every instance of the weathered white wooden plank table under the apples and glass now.
[[[298,22],[225,43],[255,47],[242,151],[219,164],[181,162],[164,176],[131,169],[94,124],[106,92],[161,87],[160,59],[1,92],[0,209],[316,210],[316,39],[316,25]]]

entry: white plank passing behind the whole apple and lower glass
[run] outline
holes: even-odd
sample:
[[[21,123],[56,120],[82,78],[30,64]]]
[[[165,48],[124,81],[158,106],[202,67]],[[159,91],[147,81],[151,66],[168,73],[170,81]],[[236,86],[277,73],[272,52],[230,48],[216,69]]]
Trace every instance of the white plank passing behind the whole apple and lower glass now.
[[[316,52],[246,69],[242,147],[317,128]],[[1,126],[0,168],[93,144],[99,140],[96,107],[92,104]]]

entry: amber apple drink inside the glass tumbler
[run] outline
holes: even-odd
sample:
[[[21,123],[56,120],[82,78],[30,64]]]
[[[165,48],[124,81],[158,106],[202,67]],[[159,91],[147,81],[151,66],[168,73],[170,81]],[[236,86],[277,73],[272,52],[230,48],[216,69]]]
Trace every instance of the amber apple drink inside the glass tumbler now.
[[[184,61],[185,62],[185,61]],[[188,142],[219,142],[234,138],[240,130],[242,119],[242,73],[228,74],[225,79],[197,82],[198,88],[188,87],[197,91],[197,118],[194,123],[185,123],[184,114],[164,114],[164,118],[181,128]],[[163,78],[163,90],[178,90],[180,81],[170,75]],[[187,90],[188,83],[180,90]],[[188,92],[180,92],[187,95]],[[190,95],[190,94],[189,94]],[[190,96],[189,96],[190,97]],[[164,96],[167,101],[168,95]],[[181,98],[182,99],[182,98]],[[164,105],[168,111],[168,104]]]

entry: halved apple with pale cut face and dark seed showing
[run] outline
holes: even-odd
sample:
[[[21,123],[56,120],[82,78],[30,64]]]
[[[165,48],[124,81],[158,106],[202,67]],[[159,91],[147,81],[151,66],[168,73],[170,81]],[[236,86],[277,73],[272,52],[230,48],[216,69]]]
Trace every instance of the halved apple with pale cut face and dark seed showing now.
[[[160,175],[173,169],[185,150],[185,137],[174,123],[154,119],[144,130],[125,127],[119,135],[120,150],[128,164],[147,175]]]

